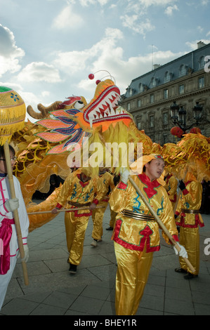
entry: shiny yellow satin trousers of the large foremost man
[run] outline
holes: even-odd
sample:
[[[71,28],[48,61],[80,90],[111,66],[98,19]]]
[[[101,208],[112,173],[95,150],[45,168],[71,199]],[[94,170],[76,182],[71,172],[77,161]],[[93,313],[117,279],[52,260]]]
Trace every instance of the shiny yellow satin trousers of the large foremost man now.
[[[116,315],[136,315],[152,265],[153,252],[125,249],[114,242],[117,258]]]

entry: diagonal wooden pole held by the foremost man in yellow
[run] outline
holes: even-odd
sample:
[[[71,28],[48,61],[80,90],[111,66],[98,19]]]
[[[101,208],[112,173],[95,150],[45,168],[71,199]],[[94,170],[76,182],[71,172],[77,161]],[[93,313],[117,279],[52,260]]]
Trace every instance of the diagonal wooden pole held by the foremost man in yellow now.
[[[173,239],[173,237],[170,234],[169,230],[167,230],[167,228],[164,225],[164,223],[162,223],[162,220],[160,220],[159,216],[157,216],[157,213],[152,209],[152,206],[149,204],[149,202],[147,201],[147,199],[145,198],[145,196],[143,196],[143,193],[140,191],[138,185],[136,185],[136,183],[131,178],[131,176],[129,176],[129,180],[130,180],[131,184],[133,185],[133,187],[135,187],[135,189],[138,192],[138,194],[140,195],[140,197],[143,199],[143,202],[145,203],[145,205],[147,206],[147,208],[150,210],[150,212],[152,213],[152,215],[155,216],[155,220],[157,220],[157,223],[159,224],[159,227],[161,227],[162,230],[164,230],[164,232],[166,233],[167,237],[169,237],[169,239],[170,239],[171,243],[173,244],[173,246],[175,246],[176,247],[176,250],[179,252],[181,250],[180,246],[178,246],[177,242],[175,241],[175,239]],[[188,267],[190,268],[190,270],[192,272],[195,272],[195,268],[191,265],[191,263],[188,260],[188,258],[183,258],[183,260],[185,260],[185,263],[188,265]]]

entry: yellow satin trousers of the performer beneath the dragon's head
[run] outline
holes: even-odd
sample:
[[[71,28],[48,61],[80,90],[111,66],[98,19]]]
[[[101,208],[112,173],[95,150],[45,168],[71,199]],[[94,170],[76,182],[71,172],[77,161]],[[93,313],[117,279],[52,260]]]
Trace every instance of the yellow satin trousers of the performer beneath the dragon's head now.
[[[79,265],[83,254],[84,237],[89,216],[75,217],[74,212],[65,212],[65,232],[69,263]]]

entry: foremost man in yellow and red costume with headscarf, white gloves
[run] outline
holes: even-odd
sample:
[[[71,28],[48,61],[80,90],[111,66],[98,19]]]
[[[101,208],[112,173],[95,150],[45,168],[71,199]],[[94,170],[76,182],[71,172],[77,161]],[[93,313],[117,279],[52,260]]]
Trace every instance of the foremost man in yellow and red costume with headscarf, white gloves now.
[[[171,202],[166,190],[162,187],[163,171],[162,157],[150,154],[143,156],[143,173],[133,175],[132,179],[178,242]],[[136,314],[152,265],[153,252],[160,249],[159,225],[128,179],[129,171],[124,169],[121,182],[114,188],[110,197],[110,206],[117,212],[112,235],[117,258],[115,293],[117,315]],[[164,239],[169,243],[166,235]],[[179,246],[181,247],[179,255],[185,258],[187,253],[183,246],[180,244]],[[175,252],[178,253],[176,249]]]

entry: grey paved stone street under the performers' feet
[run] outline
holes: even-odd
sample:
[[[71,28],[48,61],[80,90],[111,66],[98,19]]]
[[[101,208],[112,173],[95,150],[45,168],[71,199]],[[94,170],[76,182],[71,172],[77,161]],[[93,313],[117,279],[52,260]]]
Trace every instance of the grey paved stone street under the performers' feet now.
[[[199,277],[189,281],[174,272],[179,265],[178,257],[162,239],[162,248],[154,253],[137,315],[210,315],[210,255],[204,254],[207,246],[204,239],[210,240],[210,216],[202,216],[205,227],[200,229]],[[64,212],[30,232],[29,285],[25,286],[23,282],[22,266],[18,261],[0,315],[115,315],[117,264],[112,231],[105,230],[109,221],[108,207],[103,220],[103,241],[93,247],[90,218],[77,275],[69,273]]]

